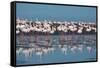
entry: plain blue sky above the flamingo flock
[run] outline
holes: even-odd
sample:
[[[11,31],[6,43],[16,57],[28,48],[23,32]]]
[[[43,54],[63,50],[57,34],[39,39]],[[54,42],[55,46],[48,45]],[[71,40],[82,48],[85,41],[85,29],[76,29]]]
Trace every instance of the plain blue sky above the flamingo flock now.
[[[16,17],[29,20],[96,22],[96,8],[16,3]]]

